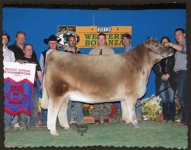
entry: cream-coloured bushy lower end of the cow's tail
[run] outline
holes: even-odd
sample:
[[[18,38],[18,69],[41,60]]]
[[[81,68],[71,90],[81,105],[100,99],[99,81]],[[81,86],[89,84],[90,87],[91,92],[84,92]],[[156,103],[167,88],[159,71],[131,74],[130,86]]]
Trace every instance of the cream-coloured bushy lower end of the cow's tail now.
[[[41,107],[43,109],[48,109],[48,93],[46,89],[46,80],[45,80],[45,74],[43,75],[43,90],[42,90],[42,101],[41,101]]]

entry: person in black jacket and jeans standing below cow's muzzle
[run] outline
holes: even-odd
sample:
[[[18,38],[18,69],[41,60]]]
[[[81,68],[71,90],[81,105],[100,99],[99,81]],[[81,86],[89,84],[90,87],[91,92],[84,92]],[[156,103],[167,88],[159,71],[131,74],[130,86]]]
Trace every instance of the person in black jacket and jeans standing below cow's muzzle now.
[[[161,43],[170,42],[168,37],[162,37]],[[176,80],[174,72],[174,55],[163,59],[155,64],[153,70],[156,74],[156,95],[162,99],[163,119],[167,123],[172,123],[175,118],[175,91]]]

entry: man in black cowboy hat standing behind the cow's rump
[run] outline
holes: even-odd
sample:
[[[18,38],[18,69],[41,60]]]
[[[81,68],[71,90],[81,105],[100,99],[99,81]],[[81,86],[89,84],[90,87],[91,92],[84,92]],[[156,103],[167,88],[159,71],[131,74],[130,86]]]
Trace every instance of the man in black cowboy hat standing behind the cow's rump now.
[[[58,43],[61,41],[61,39],[58,39],[55,35],[50,35],[48,39],[44,39],[44,43],[48,44],[48,49],[41,52],[40,55],[40,67],[42,72],[44,72],[45,68],[45,60],[46,60],[46,53],[49,49],[55,49],[58,50]],[[47,110],[41,109],[41,123],[42,126],[46,126],[47,123]]]

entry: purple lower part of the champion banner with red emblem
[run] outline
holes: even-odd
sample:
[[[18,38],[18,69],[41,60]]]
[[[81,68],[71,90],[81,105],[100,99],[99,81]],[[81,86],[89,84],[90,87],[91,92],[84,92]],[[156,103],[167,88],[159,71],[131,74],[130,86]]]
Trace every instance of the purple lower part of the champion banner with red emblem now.
[[[33,100],[33,83],[24,79],[19,82],[6,78],[4,80],[4,111],[11,115],[31,113],[31,103]]]

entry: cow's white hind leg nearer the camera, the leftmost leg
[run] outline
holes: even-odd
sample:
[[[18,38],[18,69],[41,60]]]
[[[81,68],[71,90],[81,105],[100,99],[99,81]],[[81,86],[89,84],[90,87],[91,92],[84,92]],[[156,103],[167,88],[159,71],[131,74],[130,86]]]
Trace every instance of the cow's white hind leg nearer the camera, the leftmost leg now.
[[[56,131],[56,119],[58,116],[58,112],[62,106],[63,99],[57,99],[56,103],[52,102],[52,98],[49,97],[48,103],[48,117],[47,117],[47,127],[50,130],[50,134],[58,136],[58,132]]]

